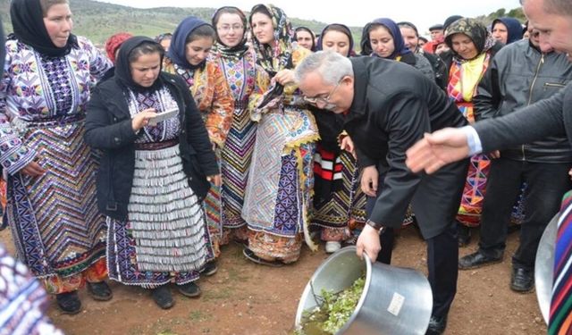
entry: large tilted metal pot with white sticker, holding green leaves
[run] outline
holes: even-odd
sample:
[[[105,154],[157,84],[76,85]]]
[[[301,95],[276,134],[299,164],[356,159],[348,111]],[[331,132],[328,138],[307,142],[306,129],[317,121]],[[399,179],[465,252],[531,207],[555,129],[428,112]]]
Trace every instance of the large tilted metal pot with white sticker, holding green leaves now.
[[[296,313],[318,306],[320,292],[339,292],[366,273],[366,285],[356,310],[336,335],[425,334],[433,309],[433,294],[425,276],[413,269],[360,260],[356,247],[344,247],[321,264],[308,281]]]

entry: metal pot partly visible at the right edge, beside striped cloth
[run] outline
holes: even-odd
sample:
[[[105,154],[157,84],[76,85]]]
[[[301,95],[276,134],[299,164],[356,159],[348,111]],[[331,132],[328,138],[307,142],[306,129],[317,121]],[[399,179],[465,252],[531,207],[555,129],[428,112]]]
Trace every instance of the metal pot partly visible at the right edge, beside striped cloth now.
[[[534,285],[536,298],[544,322],[548,324],[551,312],[552,272],[554,269],[554,247],[556,247],[556,233],[558,232],[559,214],[554,215],[543,232],[538,244],[536,259],[534,260]]]

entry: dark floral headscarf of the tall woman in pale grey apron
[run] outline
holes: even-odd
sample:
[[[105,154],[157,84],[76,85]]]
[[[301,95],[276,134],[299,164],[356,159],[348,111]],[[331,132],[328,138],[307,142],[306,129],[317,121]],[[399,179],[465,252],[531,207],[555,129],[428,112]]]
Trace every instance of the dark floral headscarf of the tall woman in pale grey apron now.
[[[259,12],[270,14],[274,27],[273,45],[260,44],[256,37],[252,38],[252,44],[257,52],[257,63],[268,72],[271,77],[278,71],[286,69],[290,63],[292,54],[292,38],[294,33],[290,20],[282,9],[274,7],[272,4],[257,4],[250,11],[249,23],[252,26],[252,14]]]

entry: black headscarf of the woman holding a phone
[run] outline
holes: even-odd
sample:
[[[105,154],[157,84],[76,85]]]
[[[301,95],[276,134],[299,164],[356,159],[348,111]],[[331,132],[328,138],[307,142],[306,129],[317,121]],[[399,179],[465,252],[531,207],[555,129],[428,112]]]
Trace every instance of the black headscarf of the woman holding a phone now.
[[[161,64],[163,64],[164,51],[163,47],[158,44],[155,40],[147,38],[144,36],[135,36],[123,42],[122,47],[119,48],[119,53],[117,54],[117,59],[115,61],[115,80],[125,88],[130,88],[131,90],[141,92],[147,90],[156,90],[162,86],[161,76],[157,77],[153,85],[149,88],[144,88],[133,81],[131,76],[131,66],[130,66],[130,53],[136,47],[143,43],[149,43],[159,46],[159,54],[161,55]]]

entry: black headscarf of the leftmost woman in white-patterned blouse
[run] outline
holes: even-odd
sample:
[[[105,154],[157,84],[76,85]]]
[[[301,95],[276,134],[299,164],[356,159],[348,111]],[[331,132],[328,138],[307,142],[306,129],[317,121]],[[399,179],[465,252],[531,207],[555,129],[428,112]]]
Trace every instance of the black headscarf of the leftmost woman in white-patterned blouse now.
[[[10,18],[16,38],[40,54],[61,57],[70,54],[72,47],[78,46],[78,39],[72,34],[65,46],[55,46],[47,34],[39,0],[13,0],[10,5]]]

